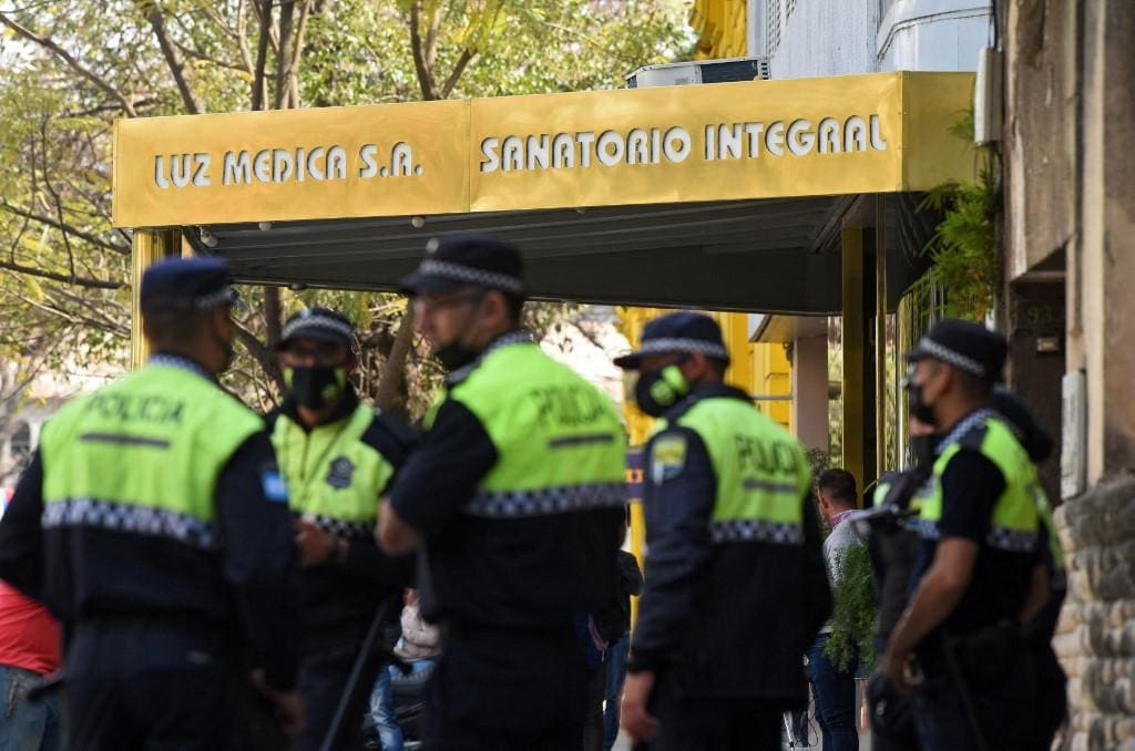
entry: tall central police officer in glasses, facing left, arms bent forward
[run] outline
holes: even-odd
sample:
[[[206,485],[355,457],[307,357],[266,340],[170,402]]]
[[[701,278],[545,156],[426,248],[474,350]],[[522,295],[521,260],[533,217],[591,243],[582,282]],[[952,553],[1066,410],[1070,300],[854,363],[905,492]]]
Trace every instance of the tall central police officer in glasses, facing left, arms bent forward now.
[[[429,748],[578,751],[587,665],[575,623],[617,583],[623,428],[520,328],[512,245],[457,235],[428,250],[403,289],[448,376],[378,537],[388,552],[423,548],[422,615],[443,625]]]

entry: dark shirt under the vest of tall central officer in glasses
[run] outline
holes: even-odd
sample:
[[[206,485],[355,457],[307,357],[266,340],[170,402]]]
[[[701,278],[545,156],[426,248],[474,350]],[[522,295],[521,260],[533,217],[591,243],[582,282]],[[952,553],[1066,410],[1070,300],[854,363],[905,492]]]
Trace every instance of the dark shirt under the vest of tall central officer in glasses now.
[[[617,584],[622,508],[505,520],[464,514],[497,461],[480,420],[446,399],[394,482],[390,504],[426,539],[422,615],[470,626],[558,628],[597,611]]]

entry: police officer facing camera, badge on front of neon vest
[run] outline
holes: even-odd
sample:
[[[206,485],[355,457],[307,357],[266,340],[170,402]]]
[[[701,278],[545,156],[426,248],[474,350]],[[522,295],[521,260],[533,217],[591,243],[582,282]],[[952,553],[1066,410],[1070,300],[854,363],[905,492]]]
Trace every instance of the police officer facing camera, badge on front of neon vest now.
[[[302,569],[300,692],[308,726],[294,749],[320,746],[378,606],[401,602],[413,573],[410,558],[378,549],[373,529],[378,499],[415,437],[359,399],[350,380],[358,365],[353,339],[354,326],[335,311],[292,315],[278,345],[287,394],[268,415]],[[362,683],[372,685],[373,676]]]

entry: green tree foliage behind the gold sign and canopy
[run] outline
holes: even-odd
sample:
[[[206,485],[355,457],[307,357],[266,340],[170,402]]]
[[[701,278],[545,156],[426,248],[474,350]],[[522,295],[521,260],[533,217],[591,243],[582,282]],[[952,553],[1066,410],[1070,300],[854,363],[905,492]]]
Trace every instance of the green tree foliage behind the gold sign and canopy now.
[[[45,338],[60,357],[125,365],[117,118],[614,87],[689,47],[681,0],[0,0],[0,356]],[[417,411],[427,398],[436,373],[421,343],[405,369],[385,368],[410,335],[396,296],[245,296],[232,376],[242,394],[277,397],[280,320],[318,301],[360,321],[365,389],[381,393],[379,369],[404,370],[398,400]]]

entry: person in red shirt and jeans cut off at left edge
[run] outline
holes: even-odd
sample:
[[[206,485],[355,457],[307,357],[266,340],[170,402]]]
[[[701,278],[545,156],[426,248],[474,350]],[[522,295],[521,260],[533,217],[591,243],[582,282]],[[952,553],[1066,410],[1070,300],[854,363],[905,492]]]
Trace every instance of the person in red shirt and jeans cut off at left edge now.
[[[0,515],[7,503],[0,490]],[[45,607],[0,582],[0,751],[56,751],[60,748],[59,695],[36,702],[27,692],[61,660],[59,623]]]

